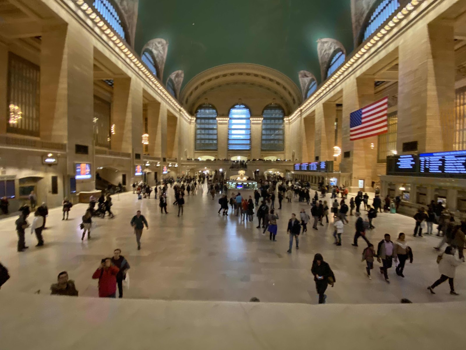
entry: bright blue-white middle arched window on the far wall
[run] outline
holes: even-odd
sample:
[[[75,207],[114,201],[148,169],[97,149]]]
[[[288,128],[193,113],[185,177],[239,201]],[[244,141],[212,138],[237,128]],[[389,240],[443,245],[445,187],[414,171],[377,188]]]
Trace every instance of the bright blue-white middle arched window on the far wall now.
[[[228,149],[251,149],[251,111],[246,105],[237,104],[230,109],[228,121]]]

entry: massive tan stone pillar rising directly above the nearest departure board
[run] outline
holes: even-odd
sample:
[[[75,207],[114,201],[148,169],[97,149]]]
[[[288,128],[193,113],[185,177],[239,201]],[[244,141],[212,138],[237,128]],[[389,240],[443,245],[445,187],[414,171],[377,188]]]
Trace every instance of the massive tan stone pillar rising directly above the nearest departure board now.
[[[418,141],[419,152],[452,150],[455,55],[453,23],[418,23],[400,43],[397,150]],[[409,152],[408,152],[409,153]]]

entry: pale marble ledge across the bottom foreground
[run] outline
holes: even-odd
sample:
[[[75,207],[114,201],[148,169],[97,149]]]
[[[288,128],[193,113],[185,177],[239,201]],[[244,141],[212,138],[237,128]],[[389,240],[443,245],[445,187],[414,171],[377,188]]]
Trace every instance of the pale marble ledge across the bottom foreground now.
[[[466,304],[308,305],[0,291],[0,348],[463,349]]]

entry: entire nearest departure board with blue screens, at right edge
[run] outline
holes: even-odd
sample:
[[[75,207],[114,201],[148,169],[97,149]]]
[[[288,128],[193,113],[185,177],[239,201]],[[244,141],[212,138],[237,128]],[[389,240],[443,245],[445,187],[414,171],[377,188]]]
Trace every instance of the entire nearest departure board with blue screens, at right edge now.
[[[387,175],[466,178],[466,151],[390,156]]]

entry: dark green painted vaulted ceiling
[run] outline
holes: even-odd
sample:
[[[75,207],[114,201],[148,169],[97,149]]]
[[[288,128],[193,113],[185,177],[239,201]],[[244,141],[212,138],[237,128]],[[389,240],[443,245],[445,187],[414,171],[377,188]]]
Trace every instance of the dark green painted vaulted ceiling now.
[[[317,39],[353,49],[350,0],[139,0],[137,52],[154,38],[169,42],[164,82],[184,70],[183,85],[226,63],[279,70],[298,86],[298,71],[320,82]]]

